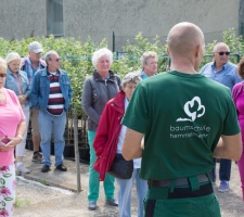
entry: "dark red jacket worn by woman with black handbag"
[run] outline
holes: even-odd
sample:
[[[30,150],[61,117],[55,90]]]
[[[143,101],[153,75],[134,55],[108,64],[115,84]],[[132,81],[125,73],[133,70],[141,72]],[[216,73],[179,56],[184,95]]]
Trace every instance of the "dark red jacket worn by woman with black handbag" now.
[[[124,114],[125,93],[120,90],[114,99],[106,103],[95,132],[93,146],[98,158],[93,168],[100,174],[100,181],[105,179],[105,175],[113,164]]]

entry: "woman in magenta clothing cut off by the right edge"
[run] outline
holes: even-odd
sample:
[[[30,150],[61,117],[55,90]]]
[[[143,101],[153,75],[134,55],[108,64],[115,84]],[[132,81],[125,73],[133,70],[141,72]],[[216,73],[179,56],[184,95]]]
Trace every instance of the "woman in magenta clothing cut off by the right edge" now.
[[[242,60],[237,65],[237,73],[240,77],[244,79],[244,56],[242,58]],[[242,141],[244,141],[244,81],[239,82],[233,87],[232,99],[234,101],[237,112],[239,124],[242,132]],[[241,177],[242,195],[244,201],[244,149],[241,158],[237,161],[237,166]]]

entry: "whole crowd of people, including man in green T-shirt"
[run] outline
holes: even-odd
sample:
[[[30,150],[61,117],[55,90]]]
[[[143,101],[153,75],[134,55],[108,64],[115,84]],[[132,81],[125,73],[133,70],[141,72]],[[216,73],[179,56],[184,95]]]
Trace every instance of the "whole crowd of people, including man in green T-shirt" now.
[[[124,78],[111,71],[108,49],[92,55],[94,71],[81,97],[88,116],[90,210],[98,208],[102,181],[105,202],[130,217],[136,182],[138,217],[220,216],[213,189],[217,161],[220,192],[229,191],[231,162],[236,161],[244,201],[244,58],[231,63],[228,44],[217,42],[214,61],[198,71],[204,35],[187,22],[170,29],[167,43],[167,73],[157,72],[153,51],[142,54],[141,71]],[[53,139],[55,169],[67,171],[63,152],[72,86],[59,53],[50,50],[43,60],[42,53],[42,46],[33,41],[28,56],[11,52],[0,59],[0,188],[5,189],[0,210],[5,216],[13,215],[15,175],[30,173],[23,163],[29,123],[31,161],[42,164],[41,173],[50,171]],[[110,175],[116,155],[133,162],[130,178]]]

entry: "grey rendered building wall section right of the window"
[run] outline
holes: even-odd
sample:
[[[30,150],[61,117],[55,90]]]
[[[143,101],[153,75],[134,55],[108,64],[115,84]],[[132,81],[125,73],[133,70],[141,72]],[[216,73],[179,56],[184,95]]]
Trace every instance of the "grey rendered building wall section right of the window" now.
[[[114,31],[117,50],[139,31],[147,38],[166,38],[172,25],[188,21],[213,41],[223,30],[237,28],[237,13],[239,0],[66,0],[64,31],[81,40],[106,38],[110,48]]]

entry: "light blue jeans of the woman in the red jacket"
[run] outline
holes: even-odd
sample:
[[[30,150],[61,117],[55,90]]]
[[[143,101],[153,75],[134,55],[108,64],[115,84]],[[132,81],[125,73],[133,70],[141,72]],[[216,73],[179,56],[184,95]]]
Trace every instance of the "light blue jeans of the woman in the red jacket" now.
[[[137,181],[137,195],[138,195],[138,217],[143,217],[143,200],[147,191],[146,180],[142,180],[139,177],[140,168],[133,169],[132,177],[130,179],[116,179],[118,189],[118,208],[120,217],[131,216],[131,190],[134,180]]]

